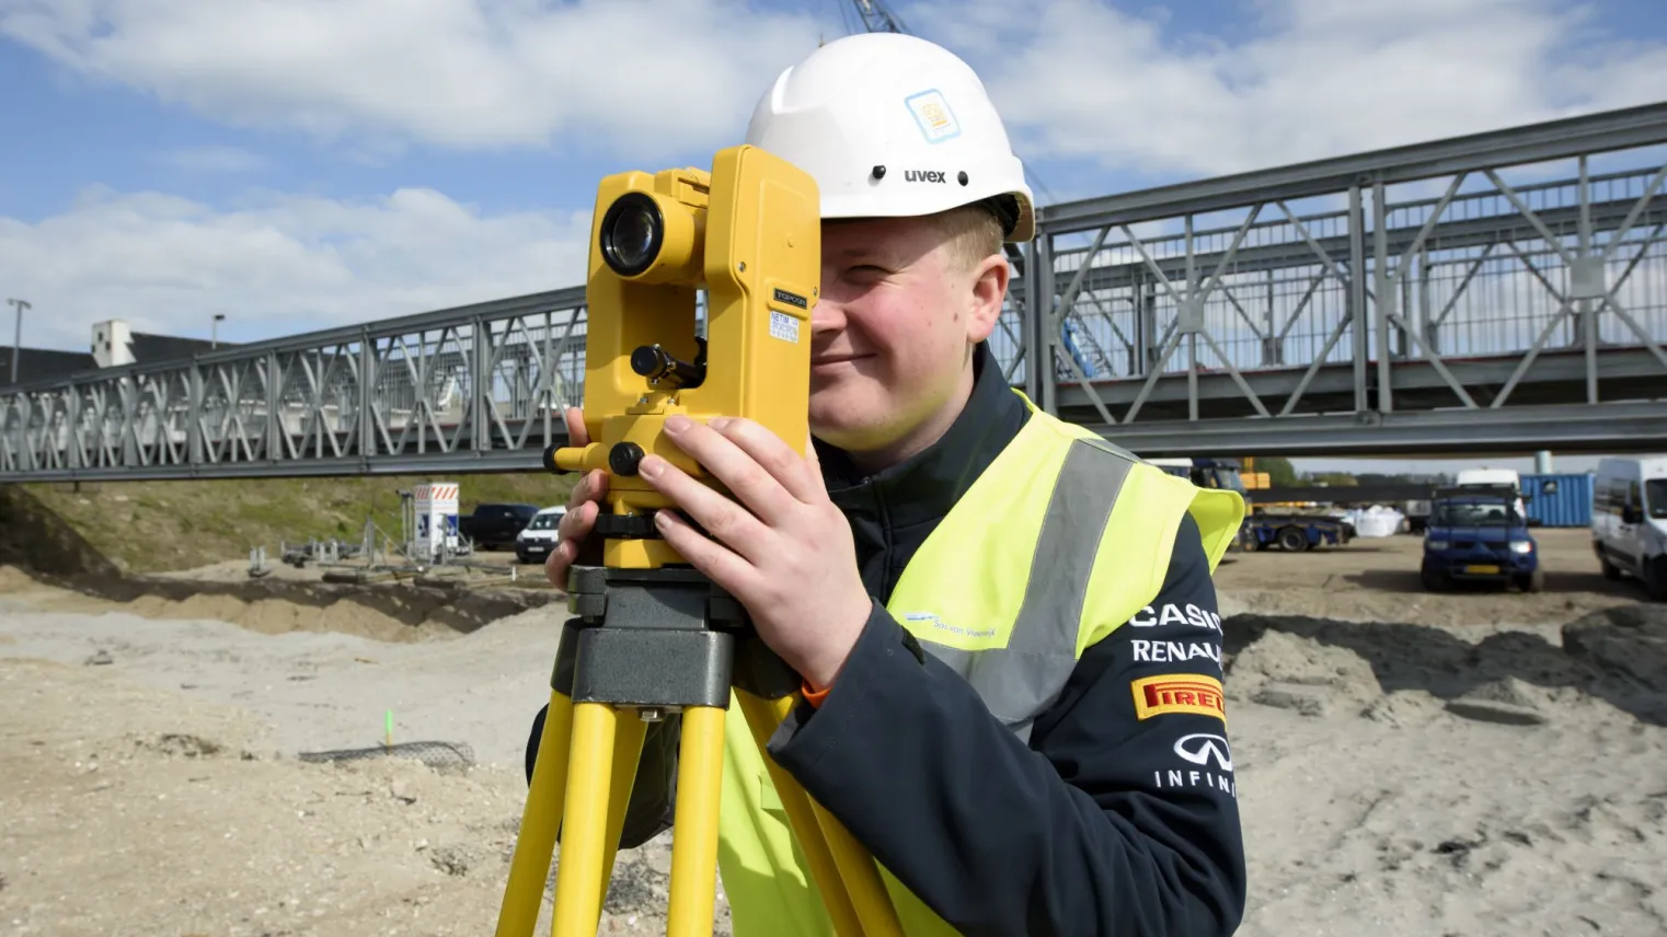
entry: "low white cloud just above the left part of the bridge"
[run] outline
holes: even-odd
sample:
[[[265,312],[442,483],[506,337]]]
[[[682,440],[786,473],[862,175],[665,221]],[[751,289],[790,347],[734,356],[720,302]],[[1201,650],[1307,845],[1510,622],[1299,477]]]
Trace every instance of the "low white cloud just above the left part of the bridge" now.
[[[590,210],[483,215],[428,188],[338,202],[263,193],[217,212],[93,188],[30,225],[0,217],[0,282],[25,345],[83,348],[93,322],[253,340],[583,283]]]

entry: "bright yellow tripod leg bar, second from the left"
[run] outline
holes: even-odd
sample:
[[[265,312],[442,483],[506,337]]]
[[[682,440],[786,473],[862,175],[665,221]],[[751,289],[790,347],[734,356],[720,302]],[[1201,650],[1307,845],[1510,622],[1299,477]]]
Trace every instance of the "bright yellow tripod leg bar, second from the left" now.
[[[608,855],[608,794],[613,774],[613,737],[620,710],[608,704],[573,705],[572,767],[562,810],[562,862],[555,870],[555,927],[552,937],[595,937],[602,919],[602,877]]]

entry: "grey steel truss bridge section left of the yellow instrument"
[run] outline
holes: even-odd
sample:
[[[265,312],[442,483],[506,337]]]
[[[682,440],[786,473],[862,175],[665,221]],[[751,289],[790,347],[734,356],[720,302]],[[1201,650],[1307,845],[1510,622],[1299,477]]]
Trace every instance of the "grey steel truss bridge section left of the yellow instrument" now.
[[[537,465],[583,390],[555,290],[0,390],[0,479]]]

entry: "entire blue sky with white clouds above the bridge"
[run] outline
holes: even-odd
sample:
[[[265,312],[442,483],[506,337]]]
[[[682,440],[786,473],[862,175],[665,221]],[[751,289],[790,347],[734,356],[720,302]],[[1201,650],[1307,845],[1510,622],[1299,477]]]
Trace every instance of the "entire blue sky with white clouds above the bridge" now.
[[[984,75],[1055,198],[1667,97],[1659,0],[889,7]],[[110,317],[253,340],[577,285],[600,175],[707,162],[855,25],[850,0],[0,0],[0,292],[33,303],[25,345],[78,348]]]

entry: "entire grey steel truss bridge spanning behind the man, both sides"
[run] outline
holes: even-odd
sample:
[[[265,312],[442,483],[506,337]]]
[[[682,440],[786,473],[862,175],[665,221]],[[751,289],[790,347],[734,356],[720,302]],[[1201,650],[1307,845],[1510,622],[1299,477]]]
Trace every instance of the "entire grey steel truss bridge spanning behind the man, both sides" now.
[[[1664,448],[1664,143],[1667,103],[1050,205],[990,345],[1142,455]],[[575,287],[0,387],[0,482],[538,470],[583,345]]]

